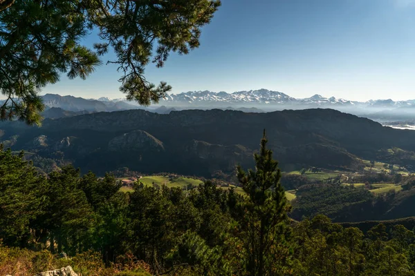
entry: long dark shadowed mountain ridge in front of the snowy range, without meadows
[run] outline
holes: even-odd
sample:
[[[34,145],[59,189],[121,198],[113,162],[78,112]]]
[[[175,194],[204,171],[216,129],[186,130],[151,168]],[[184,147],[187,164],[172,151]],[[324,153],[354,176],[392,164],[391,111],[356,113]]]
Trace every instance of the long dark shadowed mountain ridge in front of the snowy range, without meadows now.
[[[233,173],[237,163],[252,166],[257,136],[264,128],[284,170],[358,170],[360,159],[415,164],[415,132],[329,109],[183,110],[165,115],[126,110],[45,119],[41,128],[18,122],[0,127],[6,147],[57,164],[71,162],[83,172],[103,175],[127,166],[145,173],[205,177]],[[399,154],[391,155],[390,148],[398,148]]]

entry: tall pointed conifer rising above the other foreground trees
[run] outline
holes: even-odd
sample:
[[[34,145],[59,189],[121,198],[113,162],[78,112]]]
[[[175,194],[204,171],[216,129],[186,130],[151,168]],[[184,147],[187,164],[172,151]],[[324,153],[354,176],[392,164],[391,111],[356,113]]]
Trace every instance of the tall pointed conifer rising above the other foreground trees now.
[[[240,221],[241,240],[245,248],[243,266],[248,275],[263,276],[280,273],[281,259],[277,254],[284,244],[284,228],[291,210],[279,183],[281,171],[273,152],[266,148],[268,139],[264,130],[259,153],[254,155],[255,171],[244,172],[237,166],[237,177],[248,199],[243,204]]]

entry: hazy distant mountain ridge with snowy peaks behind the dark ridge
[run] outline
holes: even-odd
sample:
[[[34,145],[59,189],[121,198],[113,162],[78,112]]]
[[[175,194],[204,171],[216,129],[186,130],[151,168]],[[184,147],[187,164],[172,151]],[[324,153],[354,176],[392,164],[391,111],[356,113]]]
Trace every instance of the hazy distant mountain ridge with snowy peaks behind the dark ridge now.
[[[189,91],[179,94],[168,94],[160,103],[149,107],[139,106],[135,101],[126,99],[84,99],[73,96],[46,94],[42,96],[48,108],[62,108],[71,112],[112,112],[118,110],[144,109],[159,114],[168,114],[172,110],[187,109],[222,109],[242,110],[243,112],[270,112],[275,110],[302,110],[308,108],[331,108],[377,121],[400,121],[415,119],[415,100],[393,101],[376,99],[370,101],[349,101],[335,97],[313,95],[304,99],[296,99],[283,92],[260,89],[237,92]],[[409,108],[409,109],[408,109]],[[60,112],[62,117],[68,117]],[[391,115],[393,114],[393,115]],[[45,113],[49,117],[50,112]],[[58,112],[49,118],[57,118]]]

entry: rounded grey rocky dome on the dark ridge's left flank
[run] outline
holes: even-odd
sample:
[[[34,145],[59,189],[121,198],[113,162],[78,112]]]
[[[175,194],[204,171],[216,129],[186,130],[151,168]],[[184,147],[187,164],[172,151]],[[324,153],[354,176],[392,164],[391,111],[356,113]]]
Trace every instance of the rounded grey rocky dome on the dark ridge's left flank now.
[[[143,130],[133,130],[109,141],[111,151],[164,151],[163,142]]]

